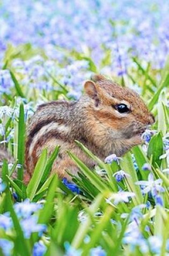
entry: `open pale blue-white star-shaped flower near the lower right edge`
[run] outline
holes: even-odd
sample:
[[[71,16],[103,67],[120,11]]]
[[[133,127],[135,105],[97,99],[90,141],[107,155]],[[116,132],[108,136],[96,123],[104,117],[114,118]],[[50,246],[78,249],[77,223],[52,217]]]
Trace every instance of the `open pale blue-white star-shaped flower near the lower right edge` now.
[[[143,187],[142,192],[148,193],[151,191],[152,196],[158,195],[158,192],[164,192],[165,189],[161,184],[163,183],[162,179],[154,179],[153,174],[149,174],[148,181],[138,181],[137,185],[141,185]]]

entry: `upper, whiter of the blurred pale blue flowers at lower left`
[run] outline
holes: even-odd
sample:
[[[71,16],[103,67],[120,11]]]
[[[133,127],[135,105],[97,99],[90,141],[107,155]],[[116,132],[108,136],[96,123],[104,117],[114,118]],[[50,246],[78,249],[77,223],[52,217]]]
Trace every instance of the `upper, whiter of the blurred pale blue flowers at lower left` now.
[[[32,203],[30,199],[25,199],[24,202],[14,204],[14,210],[20,218],[28,218],[32,213],[42,208],[41,204]]]

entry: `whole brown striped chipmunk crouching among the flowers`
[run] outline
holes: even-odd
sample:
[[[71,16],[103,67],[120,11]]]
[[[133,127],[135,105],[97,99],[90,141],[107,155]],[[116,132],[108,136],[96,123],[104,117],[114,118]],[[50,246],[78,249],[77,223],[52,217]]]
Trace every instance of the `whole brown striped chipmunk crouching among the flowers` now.
[[[146,126],[155,121],[137,93],[102,75],[86,81],[84,91],[78,101],[53,101],[36,110],[27,130],[25,182],[32,176],[45,147],[50,154],[56,145],[61,146],[52,171],[61,178],[69,178],[65,170],[76,174],[78,169],[67,150],[70,149],[89,167],[94,165],[75,140],[102,160],[113,153],[121,156],[142,142],[141,135]]]

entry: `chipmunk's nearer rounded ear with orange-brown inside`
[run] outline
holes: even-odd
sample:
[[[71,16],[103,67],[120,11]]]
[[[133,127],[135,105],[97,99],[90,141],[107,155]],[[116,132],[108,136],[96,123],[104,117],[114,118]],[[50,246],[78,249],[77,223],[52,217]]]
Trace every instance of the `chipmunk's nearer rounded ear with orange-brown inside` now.
[[[95,101],[95,106],[99,105],[98,90],[93,81],[86,81],[84,84],[85,93]]]

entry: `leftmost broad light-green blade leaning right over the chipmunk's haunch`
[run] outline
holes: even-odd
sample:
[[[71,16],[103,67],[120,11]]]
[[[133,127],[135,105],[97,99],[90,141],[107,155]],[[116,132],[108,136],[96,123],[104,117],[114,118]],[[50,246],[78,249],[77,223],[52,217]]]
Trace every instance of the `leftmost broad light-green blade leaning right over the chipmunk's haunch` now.
[[[30,198],[30,200],[33,199],[33,197],[35,196],[36,190],[38,189],[41,178],[45,171],[46,162],[47,162],[47,149],[44,149],[42,151],[42,154],[41,154],[38,162],[36,163],[36,166],[35,166],[35,169],[33,172],[33,176],[32,176],[31,181],[28,184],[27,189],[26,189],[27,197]]]

